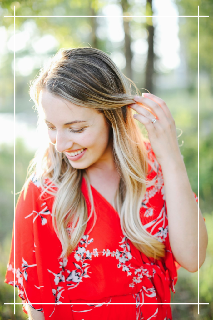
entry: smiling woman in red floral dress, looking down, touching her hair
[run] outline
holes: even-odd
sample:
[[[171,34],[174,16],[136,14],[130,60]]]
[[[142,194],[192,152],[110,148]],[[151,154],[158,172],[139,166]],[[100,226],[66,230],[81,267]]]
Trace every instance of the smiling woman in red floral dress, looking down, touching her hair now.
[[[42,139],[16,205],[15,268],[30,319],[172,319],[177,268],[197,271],[197,196],[174,119],[131,84],[94,48],[59,50],[30,83]],[[201,266],[201,212],[199,228]]]

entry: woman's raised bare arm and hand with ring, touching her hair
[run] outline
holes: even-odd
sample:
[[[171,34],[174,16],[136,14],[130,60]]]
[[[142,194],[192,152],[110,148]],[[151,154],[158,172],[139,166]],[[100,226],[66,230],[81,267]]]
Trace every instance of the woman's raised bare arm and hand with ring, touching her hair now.
[[[137,103],[129,107],[138,112],[136,120],[144,124],[162,169],[171,250],[177,263],[195,272],[205,260],[208,234],[180,153],[175,120],[165,101],[154,94],[146,92],[143,97],[135,96],[134,100]]]

